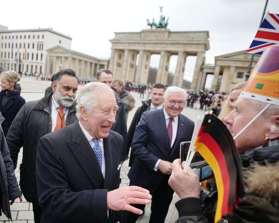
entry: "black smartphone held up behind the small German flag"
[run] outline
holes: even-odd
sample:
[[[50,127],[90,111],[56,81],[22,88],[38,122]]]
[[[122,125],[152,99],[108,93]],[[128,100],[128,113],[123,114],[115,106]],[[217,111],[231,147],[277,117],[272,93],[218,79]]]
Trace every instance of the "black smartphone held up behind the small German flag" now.
[[[191,141],[188,142],[181,142],[180,143],[180,162],[186,160],[189,146]],[[214,176],[213,171],[211,167],[208,165],[208,163],[203,159],[200,153],[196,152],[192,162],[190,164],[190,167],[195,170],[200,182],[207,180]]]

